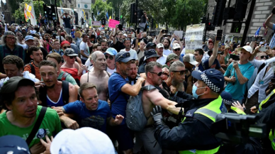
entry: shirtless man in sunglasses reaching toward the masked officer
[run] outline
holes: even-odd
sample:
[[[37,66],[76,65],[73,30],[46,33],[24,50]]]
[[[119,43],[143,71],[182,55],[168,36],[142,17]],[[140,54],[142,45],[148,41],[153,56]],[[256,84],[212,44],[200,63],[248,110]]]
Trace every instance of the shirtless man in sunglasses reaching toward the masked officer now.
[[[158,87],[162,84],[162,65],[159,62],[149,62],[145,66],[145,86],[153,85]],[[158,89],[152,89],[150,91],[143,90],[142,92],[142,105],[143,111],[146,117],[149,117],[147,120],[147,126],[143,131],[135,133],[136,143],[134,146],[134,153],[138,153],[140,148],[142,147],[142,143],[146,150],[150,153],[162,153],[162,148],[158,143],[152,142],[155,140],[154,137],[154,121],[150,116],[150,112],[152,109],[157,106],[162,106],[162,109],[167,109],[171,111],[173,114],[179,114],[179,109],[175,107],[177,103],[174,101],[169,101],[165,99],[161,93],[159,93]],[[146,136],[146,137],[145,137]],[[150,139],[148,139],[150,138]]]

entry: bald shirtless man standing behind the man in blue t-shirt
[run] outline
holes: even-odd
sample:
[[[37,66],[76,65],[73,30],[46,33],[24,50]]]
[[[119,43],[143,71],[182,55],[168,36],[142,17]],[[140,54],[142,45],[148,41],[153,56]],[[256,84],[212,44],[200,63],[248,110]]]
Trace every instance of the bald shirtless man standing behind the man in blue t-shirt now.
[[[106,72],[106,58],[101,51],[91,54],[91,63],[94,65],[94,71],[82,75],[80,84],[91,82],[97,87],[99,99],[107,101],[108,79],[110,75]]]

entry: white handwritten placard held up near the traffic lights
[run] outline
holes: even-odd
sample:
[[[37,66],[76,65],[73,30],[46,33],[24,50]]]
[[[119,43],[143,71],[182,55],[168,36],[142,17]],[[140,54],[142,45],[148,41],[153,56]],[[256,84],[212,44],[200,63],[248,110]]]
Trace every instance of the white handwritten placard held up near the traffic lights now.
[[[197,48],[202,48],[203,30],[205,24],[196,24],[186,27],[185,33],[185,54],[192,53]]]

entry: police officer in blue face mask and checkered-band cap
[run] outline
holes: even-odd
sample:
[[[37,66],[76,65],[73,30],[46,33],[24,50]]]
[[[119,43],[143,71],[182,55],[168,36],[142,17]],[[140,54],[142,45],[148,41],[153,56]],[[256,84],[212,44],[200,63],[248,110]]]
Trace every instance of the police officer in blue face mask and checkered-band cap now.
[[[197,99],[183,103],[185,117],[179,126],[170,129],[165,125],[160,106],[155,106],[151,112],[156,126],[155,138],[162,148],[179,150],[179,153],[216,153],[220,141],[210,128],[215,116],[226,112],[220,97],[224,77],[218,70],[193,71],[192,76],[198,79],[192,89],[193,97]]]

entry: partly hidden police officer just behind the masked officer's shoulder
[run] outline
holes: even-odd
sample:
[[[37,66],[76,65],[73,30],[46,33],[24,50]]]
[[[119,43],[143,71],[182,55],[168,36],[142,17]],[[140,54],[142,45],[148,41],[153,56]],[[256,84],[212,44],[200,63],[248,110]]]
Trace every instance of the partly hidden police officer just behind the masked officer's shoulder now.
[[[232,95],[229,92],[223,91],[220,94],[220,97],[222,97],[223,103],[226,106],[226,109],[228,109],[228,113],[234,113],[234,114],[243,114],[246,115],[244,111],[241,109],[232,106],[233,100],[232,100]]]

